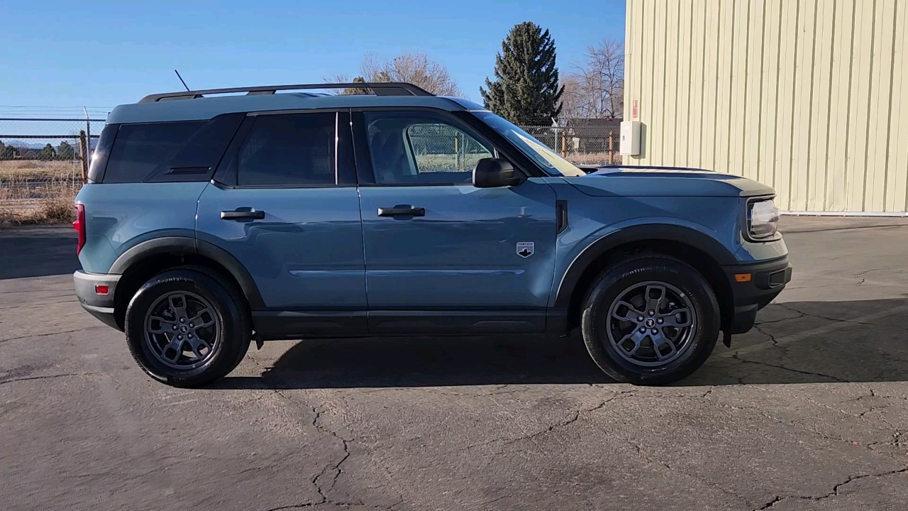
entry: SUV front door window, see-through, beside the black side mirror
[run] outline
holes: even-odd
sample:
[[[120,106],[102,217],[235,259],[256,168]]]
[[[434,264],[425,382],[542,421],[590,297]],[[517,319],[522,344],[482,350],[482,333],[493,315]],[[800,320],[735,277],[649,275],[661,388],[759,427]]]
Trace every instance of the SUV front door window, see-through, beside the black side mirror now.
[[[366,114],[372,169],[380,184],[462,184],[473,167],[492,157],[456,125],[431,114]]]

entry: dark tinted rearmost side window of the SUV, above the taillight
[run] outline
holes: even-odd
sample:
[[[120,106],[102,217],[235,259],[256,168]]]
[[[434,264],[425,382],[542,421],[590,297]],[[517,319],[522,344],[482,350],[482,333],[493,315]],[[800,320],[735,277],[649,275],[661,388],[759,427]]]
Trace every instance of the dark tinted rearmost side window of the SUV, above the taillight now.
[[[206,121],[121,125],[104,183],[139,183],[169,162]],[[102,134],[104,135],[104,134]]]

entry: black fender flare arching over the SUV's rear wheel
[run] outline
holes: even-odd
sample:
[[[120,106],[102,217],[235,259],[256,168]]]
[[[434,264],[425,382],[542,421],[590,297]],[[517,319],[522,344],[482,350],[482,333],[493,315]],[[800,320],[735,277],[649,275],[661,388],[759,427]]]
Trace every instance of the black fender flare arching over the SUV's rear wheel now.
[[[227,269],[236,279],[252,309],[264,308],[262,294],[252,275],[242,263],[218,245],[187,236],[163,236],[133,245],[116,258],[109,274],[123,275],[136,262],[156,254],[202,255]]]

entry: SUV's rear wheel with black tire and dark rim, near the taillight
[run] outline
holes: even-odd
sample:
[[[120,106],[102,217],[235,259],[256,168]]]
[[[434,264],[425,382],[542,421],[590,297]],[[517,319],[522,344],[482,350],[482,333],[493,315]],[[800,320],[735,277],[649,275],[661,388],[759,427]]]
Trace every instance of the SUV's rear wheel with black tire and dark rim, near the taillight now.
[[[251,320],[224,279],[203,268],[153,276],[126,308],[126,343],[135,361],[171,386],[226,376],[249,349]]]

